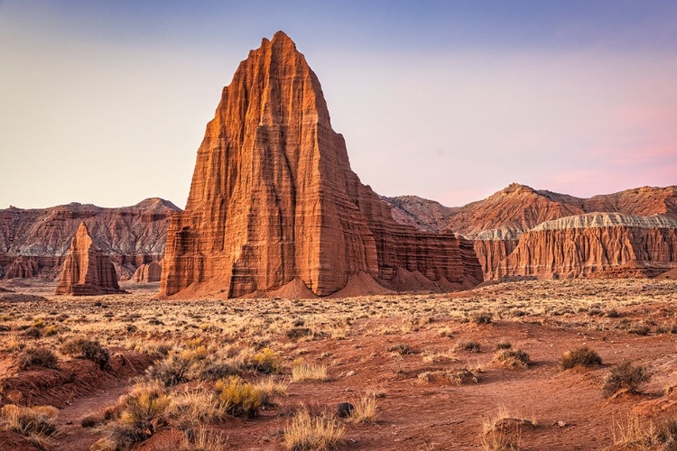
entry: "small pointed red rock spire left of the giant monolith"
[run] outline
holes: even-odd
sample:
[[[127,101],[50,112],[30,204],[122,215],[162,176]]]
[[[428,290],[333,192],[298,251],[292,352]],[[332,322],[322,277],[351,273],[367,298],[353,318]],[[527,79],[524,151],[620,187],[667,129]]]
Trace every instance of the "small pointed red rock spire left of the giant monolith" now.
[[[94,296],[116,292],[120,292],[120,286],[113,263],[92,241],[85,223],[80,223],[70,242],[55,294]]]

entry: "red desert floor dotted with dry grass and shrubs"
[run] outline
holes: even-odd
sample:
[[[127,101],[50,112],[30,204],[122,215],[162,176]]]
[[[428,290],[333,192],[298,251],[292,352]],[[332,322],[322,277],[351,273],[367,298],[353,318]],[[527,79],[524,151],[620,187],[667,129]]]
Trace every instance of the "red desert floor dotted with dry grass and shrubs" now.
[[[0,293],[0,404],[58,409],[48,415],[55,428],[35,437],[13,431],[5,406],[2,450],[124,446],[134,386],[157,400],[132,439],[144,450],[289,449],[302,411],[343,429],[337,449],[661,449],[669,438],[657,431],[677,418],[677,281],[195,301],[153,299],[157,284],[91,298],[53,296],[47,282],[0,287],[13,290]],[[97,340],[108,364],[64,352],[74,337]],[[499,344],[530,364],[499,361]],[[602,364],[562,370],[562,355],[584,345]],[[55,367],[21,369],[35,348],[50,349]],[[650,380],[603,397],[607,374],[628,361]],[[233,374],[267,400],[253,410],[219,404],[215,381]],[[336,416],[340,402],[357,406],[352,416]]]

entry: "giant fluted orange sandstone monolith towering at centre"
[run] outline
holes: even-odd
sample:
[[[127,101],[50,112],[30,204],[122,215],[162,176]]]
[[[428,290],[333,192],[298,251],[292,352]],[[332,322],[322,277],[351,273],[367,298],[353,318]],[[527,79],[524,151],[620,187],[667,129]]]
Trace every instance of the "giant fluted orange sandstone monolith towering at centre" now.
[[[172,218],[161,296],[451,290],[482,280],[471,244],[417,232],[350,170],[320,82],[283,32],[251,51]],[[289,291],[285,291],[289,292]]]

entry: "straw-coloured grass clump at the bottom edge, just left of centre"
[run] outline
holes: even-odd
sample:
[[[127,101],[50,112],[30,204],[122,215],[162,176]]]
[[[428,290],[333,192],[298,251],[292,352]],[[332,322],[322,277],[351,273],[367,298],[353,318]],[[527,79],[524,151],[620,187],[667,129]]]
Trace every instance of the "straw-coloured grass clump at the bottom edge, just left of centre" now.
[[[342,443],[344,431],[333,417],[311,417],[304,409],[284,428],[284,446],[290,451],[328,451]]]

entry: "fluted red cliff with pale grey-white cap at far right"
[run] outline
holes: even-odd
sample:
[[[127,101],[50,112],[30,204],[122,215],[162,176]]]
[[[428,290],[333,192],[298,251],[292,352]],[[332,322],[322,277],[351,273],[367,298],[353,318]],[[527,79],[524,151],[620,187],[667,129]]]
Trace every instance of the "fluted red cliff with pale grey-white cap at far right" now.
[[[622,277],[677,265],[677,221],[667,216],[589,214],[545,222],[522,235],[490,276]]]

